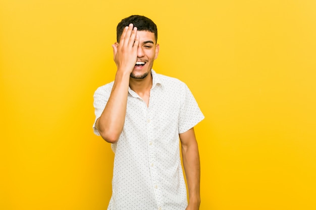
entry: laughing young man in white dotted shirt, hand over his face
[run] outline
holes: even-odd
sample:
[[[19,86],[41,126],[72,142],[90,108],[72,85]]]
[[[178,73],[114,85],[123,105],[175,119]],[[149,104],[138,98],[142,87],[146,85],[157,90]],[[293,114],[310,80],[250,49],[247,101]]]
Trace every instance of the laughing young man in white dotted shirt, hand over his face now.
[[[193,127],[204,116],[184,83],[153,71],[160,48],[156,42],[157,28],[150,19],[123,19],[112,45],[115,81],[94,93],[94,132],[115,153],[108,209],[199,209],[200,163]]]

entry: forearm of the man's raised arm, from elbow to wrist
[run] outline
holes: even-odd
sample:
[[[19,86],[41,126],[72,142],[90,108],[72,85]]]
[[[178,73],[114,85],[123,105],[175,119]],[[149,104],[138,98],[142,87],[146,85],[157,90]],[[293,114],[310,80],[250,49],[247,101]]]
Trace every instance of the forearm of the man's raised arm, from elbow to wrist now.
[[[109,143],[116,143],[123,130],[129,76],[129,73],[118,70],[108,103],[96,121],[96,127],[100,135]]]

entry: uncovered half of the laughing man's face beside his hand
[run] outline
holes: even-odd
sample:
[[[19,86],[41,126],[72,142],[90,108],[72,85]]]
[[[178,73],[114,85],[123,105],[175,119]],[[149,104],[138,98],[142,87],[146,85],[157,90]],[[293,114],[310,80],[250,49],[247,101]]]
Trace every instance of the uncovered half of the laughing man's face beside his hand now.
[[[137,49],[137,62],[131,73],[131,78],[144,79],[150,74],[154,59],[159,53],[159,44],[156,44],[154,33],[137,31],[139,44]]]

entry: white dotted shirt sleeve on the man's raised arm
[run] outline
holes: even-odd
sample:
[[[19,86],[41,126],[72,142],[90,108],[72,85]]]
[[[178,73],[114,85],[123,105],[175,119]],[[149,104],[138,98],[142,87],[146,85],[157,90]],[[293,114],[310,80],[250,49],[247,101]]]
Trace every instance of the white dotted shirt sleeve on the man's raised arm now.
[[[96,91],[93,94],[93,107],[94,107],[94,114],[95,114],[95,120],[93,123],[93,132],[96,135],[100,135],[100,133],[95,127],[95,122],[101,116],[110,98],[112,86],[111,87],[109,86],[110,84],[101,86],[98,89],[96,89]]]

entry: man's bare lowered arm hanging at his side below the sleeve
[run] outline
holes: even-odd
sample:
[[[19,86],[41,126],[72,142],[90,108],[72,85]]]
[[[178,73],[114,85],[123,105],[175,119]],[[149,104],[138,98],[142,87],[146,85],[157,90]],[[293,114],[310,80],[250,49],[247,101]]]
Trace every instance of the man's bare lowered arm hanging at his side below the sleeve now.
[[[180,133],[182,159],[189,191],[186,210],[198,210],[200,206],[200,159],[194,128]]]

